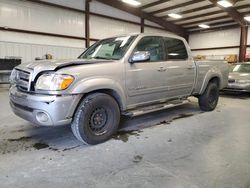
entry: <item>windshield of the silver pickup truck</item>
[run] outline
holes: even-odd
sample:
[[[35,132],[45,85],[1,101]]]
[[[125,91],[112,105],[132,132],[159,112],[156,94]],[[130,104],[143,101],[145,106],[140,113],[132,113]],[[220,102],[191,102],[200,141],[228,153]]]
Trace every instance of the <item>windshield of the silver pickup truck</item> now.
[[[119,60],[126,53],[136,36],[123,36],[104,39],[88,48],[80,59],[108,59]]]

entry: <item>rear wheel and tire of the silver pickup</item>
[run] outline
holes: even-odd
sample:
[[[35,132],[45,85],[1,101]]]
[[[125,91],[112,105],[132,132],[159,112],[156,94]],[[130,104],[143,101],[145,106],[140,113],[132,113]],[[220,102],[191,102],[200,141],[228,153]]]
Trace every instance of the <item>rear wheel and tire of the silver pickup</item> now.
[[[209,82],[206,90],[199,96],[199,106],[203,111],[212,111],[219,100],[219,87],[216,82]]]

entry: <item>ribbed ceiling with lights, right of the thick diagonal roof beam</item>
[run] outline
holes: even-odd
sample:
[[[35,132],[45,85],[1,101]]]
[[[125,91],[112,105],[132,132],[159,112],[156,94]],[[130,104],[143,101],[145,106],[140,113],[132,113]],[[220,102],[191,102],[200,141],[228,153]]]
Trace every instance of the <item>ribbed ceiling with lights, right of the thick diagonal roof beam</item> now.
[[[173,22],[189,32],[201,30],[201,28],[198,27],[200,24],[209,25],[210,28],[239,25],[237,20],[234,20],[230,13],[220,8],[216,2],[214,4],[209,0],[142,0],[140,9]],[[230,9],[236,10],[243,17],[250,14],[250,1],[237,1]],[[182,18],[171,18],[168,16],[170,13],[177,13],[181,15]]]

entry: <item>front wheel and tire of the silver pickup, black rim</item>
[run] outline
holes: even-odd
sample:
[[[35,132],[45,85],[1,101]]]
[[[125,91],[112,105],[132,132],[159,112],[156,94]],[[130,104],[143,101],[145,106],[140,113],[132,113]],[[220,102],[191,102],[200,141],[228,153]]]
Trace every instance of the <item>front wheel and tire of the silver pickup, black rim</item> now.
[[[80,103],[71,129],[79,141],[95,145],[109,140],[119,122],[120,109],[115,99],[104,93],[93,93]]]

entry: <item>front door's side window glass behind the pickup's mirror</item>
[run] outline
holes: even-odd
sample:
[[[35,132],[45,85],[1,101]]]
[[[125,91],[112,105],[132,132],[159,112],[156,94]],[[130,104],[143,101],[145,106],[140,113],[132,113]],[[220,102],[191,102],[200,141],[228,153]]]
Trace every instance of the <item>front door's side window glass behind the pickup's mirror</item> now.
[[[134,52],[147,51],[150,53],[149,62],[164,61],[164,47],[160,37],[143,37],[135,47]]]

